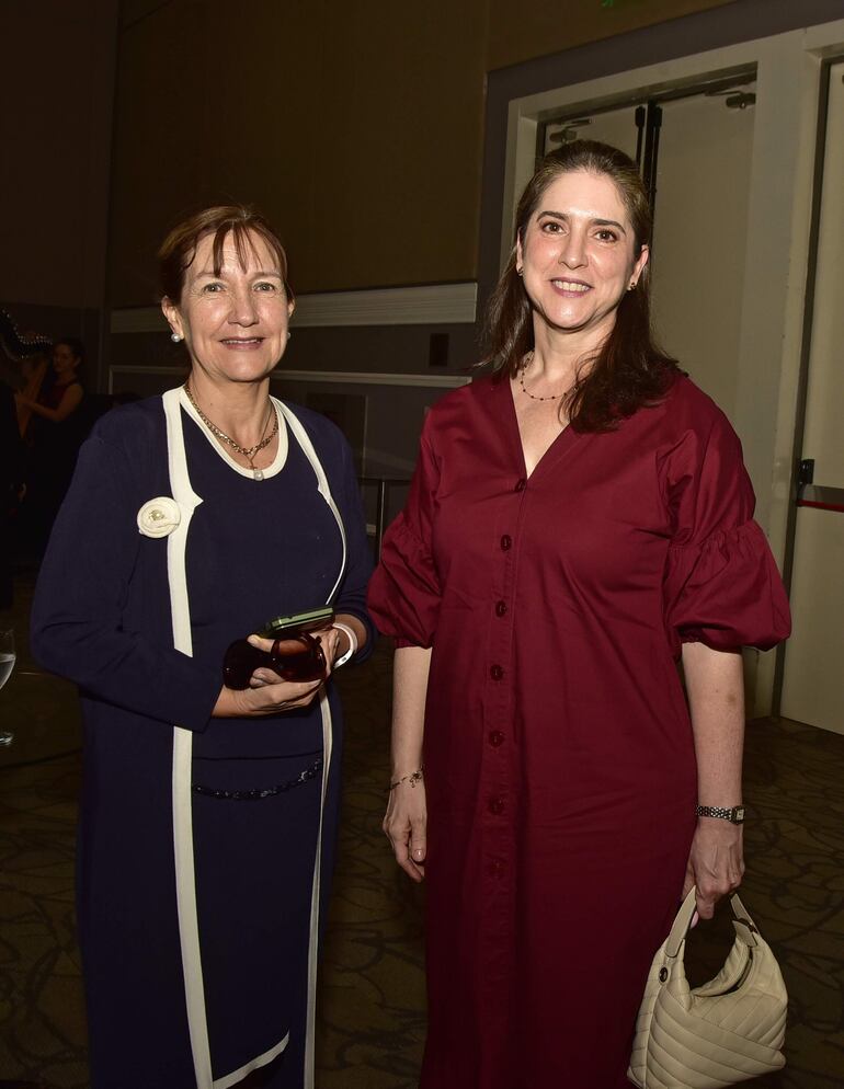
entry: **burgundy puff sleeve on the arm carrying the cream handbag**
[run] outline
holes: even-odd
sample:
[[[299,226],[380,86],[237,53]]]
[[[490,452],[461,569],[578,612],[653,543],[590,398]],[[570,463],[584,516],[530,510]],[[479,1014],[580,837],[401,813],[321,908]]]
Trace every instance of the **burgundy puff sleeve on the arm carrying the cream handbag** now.
[[[790,631],[785,588],[765,535],[741,444],[719,412],[689,427],[664,461],[672,526],[664,580],[669,637],[712,650],[768,650]]]

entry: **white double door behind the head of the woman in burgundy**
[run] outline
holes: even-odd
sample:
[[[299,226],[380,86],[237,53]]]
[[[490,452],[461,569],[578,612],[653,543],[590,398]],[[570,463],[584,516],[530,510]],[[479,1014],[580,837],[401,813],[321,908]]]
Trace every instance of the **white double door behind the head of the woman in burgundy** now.
[[[661,104],[651,264],[659,342],[730,417],[739,376],[755,84],[737,90],[700,90]],[[592,116],[586,108],[580,121],[551,124],[545,151],[574,136],[612,144],[634,158],[636,107]]]

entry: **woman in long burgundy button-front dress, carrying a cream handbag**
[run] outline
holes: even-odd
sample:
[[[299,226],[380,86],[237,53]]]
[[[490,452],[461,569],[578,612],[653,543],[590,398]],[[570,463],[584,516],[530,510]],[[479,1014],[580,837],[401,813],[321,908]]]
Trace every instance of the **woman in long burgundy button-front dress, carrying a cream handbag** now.
[[[684,890],[708,918],[741,882],[740,649],[788,606],[735,434],[653,345],[649,238],[625,154],[540,165],[494,374],[429,414],[370,587],[384,826],[427,884],[423,1089],[621,1089]]]

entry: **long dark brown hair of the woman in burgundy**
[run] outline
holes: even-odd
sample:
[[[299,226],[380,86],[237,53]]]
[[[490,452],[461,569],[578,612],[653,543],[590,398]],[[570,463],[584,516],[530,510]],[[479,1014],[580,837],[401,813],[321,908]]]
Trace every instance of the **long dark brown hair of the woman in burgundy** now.
[[[516,209],[513,249],[487,308],[484,359],[501,375],[515,377],[534,348],[533,307],[516,272],[516,243],[524,244],[528,221],[548,186],[575,170],[608,177],[624,202],[634,232],[634,256],[651,238],[651,210],[632,159],[595,140],[575,140],[547,156],[527,183]],[[650,265],[627,291],[609,335],[594,356],[581,360],[561,411],[577,431],[612,431],[637,409],[657,404],[681,371],[655,343],[651,330]]]

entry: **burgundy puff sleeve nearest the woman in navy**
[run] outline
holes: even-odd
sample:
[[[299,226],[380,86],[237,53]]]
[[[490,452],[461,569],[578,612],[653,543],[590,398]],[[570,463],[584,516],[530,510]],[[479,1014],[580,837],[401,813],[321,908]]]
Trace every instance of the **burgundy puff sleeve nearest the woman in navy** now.
[[[441,581],[431,548],[440,468],[430,423],[429,416],[407,504],[384,535],[369,583],[369,612],[397,646],[431,646],[440,614]]]

